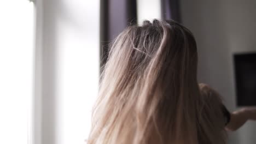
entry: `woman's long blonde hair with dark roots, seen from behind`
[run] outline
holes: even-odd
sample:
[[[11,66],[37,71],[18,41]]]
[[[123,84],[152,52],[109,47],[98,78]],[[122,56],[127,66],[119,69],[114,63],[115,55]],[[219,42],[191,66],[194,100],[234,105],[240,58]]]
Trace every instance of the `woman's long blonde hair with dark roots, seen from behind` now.
[[[174,21],[127,27],[103,67],[88,143],[224,143],[219,100],[196,78],[191,32]]]

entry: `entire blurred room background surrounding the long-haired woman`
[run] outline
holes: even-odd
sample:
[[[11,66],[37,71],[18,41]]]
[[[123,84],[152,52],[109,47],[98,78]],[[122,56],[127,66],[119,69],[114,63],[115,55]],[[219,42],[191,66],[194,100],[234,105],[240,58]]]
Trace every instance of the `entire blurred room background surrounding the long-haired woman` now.
[[[194,33],[199,82],[229,111],[256,105],[254,0],[0,1],[0,143],[86,143],[108,44],[127,25],[173,19]],[[228,143],[255,143],[256,122]]]

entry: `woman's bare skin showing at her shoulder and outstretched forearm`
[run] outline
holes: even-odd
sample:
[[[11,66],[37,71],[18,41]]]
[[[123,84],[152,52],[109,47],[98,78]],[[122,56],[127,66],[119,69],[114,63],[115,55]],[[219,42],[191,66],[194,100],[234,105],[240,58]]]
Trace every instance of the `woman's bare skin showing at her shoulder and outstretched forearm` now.
[[[199,84],[200,89],[205,88],[208,91],[213,92],[213,94],[218,94],[214,89],[205,83]],[[235,131],[242,127],[248,120],[256,121],[256,108],[253,107],[245,107],[234,112],[230,112],[230,121],[226,125],[225,130],[227,131]]]

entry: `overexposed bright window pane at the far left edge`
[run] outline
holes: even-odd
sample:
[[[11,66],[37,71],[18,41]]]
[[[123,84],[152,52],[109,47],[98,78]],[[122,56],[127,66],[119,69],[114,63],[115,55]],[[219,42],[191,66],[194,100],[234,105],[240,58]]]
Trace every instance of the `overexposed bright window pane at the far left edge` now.
[[[0,1],[0,143],[31,139],[34,5]]]

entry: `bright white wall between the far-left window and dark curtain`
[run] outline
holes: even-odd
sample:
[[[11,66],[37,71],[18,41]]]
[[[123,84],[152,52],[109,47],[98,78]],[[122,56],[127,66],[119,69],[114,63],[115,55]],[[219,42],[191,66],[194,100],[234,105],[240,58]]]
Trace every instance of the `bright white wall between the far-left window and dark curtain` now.
[[[34,143],[85,143],[98,91],[100,1],[36,1]]]

